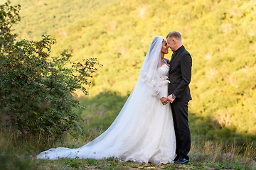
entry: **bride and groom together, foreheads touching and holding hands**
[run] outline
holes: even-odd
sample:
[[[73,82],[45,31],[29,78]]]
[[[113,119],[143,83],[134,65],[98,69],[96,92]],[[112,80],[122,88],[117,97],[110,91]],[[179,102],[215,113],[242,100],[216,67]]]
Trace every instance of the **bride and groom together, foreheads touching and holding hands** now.
[[[169,48],[174,52],[171,60],[164,58]],[[171,31],[166,40],[156,36],[137,84],[110,128],[80,148],[48,149],[37,158],[115,157],[146,164],[188,163],[191,67],[191,55],[182,45],[180,33]]]

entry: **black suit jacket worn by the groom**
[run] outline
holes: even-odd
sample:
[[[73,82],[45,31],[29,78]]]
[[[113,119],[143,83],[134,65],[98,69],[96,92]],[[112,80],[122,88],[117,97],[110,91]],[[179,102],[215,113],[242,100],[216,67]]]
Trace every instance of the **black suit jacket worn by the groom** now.
[[[176,50],[176,56],[170,61],[168,88],[169,95],[174,94],[179,101],[190,101],[191,93],[188,84],[191,81],[192,58],[182,45]]]

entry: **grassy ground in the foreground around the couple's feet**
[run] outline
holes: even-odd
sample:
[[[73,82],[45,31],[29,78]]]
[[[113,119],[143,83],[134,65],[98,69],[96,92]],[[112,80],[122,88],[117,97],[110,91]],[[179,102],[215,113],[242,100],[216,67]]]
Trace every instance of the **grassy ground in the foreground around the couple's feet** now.
[[[87,133],[86,133],[87,132]],[[178,164],[137,164],[120,162],[112,157],[106,159],[36,159],[42,149],[48,147],[76,148],[85,145],[100,135],[101,130],[87,129],[77,138],[66,134],[62,141],[42,145],[43,140],[27,140],[14,137],[11,132],[0,132],[0,169],[256,169],[255,148],[252,143],[242,146],[223,145],[213,141],[193,142],[191,146],[191,162]],[[90,135],[89,135],[90,134]]]

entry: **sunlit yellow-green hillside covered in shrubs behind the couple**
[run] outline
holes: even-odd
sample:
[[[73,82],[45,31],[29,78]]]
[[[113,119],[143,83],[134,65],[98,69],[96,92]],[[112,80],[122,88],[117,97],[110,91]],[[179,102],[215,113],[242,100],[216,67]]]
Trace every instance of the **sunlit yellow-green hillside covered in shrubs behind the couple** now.
[[[92,80],[90,98],[81,99],[87,110],[79,112],[89,122],[111,123],[137,82],[151,40],[178,30],[193,58],[192,131],[215,140],[256,140],[254,0],[12,2],[21,4],[15,27],[21,38],[50,34],[58,41],[53,55],[73,49],[74,61],[96,57],[104,65]]]

